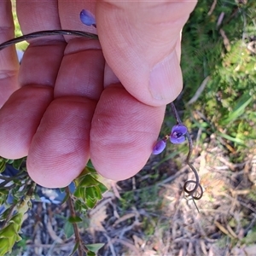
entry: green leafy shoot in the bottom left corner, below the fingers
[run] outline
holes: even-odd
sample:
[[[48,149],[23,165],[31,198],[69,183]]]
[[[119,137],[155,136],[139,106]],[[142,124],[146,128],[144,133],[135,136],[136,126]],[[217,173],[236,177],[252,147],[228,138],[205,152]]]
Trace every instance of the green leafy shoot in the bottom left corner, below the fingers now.
[[[7,163],[10,160],[0,159],[1,163]],[[11,160],[13,165],[17,166],[22,160]],[[5,169],[5,164],[2,166],[2,172]],[[20,178],[22,177],[22,178]],[[24,214],[31,207],[31,200],[34,195],[36,183],[33,183],[25,171],[20,171],[15,177],[0,176],[3,180],[0,183],[0,202],[5,205],[6,209],[0,216],[0,256],[10,253],[15,242],[20,241],[19,236]],[[11,185],[8,185],[12,183]],[[13,201],[8,204],[8,197],[11,196]]]

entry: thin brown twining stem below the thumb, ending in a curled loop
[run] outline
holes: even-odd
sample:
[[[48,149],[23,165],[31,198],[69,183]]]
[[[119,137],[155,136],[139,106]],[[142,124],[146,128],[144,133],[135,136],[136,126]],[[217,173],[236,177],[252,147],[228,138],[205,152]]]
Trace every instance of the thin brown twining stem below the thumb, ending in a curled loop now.
[[[177,113],[177,109],[175,108],[175,105],[174,105],[173,102],[171,103],[171,107],[172,107],[172,112],[174,113],[175,119],[177,120],[177,125],[182,125],[183,123],[182,123],[181,119],[179,118],[179,115]],[[203,189],[202,189],[201,183],[199,181],[198,172],[195,170],[195,167],[190,162],[190,157],[191,157],[192,150],[193,150],[193,143],[192,143],[192,139],[189,135],[189,132],[187,132],[185,134],[185,136],[188,138],[188,142],[189,142],[189,153],[188,153],[187,158],[186,158],[186,163],[189,166],[189,168],[191,169],[191,171],[194,173],[195,180],[187,180],[183,185],[183,190],[188,195],[190,195],[193,200],[200,200],[201,197],[203,196]],[[195,187],[193,189],[189,189],[190,184],[195,184]],[[196,205],[195,205],[195,207],[196,207]],[[197,208],[197,211],[198,211],[198,208]]]

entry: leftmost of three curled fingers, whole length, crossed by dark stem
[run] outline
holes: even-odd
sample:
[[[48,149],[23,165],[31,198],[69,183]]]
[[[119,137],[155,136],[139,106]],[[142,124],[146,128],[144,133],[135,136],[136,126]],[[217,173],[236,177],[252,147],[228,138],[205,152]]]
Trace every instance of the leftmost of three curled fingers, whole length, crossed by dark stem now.
[[[45,20],[47,28],[60,28],[56,1],[47,4],[18,1],[17,11],[24,32],[44,30]],[[63,39],[43,42],[38,39],[26,50],[19,73],[22,88],[16,90],[0,110],[0,155],[16,159],[28,154],[40,119],[53,99],[53,86],[65,46]]]

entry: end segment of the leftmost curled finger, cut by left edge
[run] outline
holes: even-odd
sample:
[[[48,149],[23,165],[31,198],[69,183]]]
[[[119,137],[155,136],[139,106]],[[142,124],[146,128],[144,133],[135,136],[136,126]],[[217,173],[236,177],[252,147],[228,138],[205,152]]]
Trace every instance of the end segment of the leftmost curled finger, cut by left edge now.
[[[16,90],[0,111],[0,155],[19,159],[28,154],[32,137],[53,99],[50,87],[27,85]]]

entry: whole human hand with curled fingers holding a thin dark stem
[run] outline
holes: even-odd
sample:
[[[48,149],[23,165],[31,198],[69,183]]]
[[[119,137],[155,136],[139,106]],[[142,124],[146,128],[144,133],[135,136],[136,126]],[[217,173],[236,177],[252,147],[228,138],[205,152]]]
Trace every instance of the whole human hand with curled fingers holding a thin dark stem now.
[[[61,36],[33,39],[20,67],[14,48],[0,52],[0,106],[15,91],[0,109],[0,155],[27,155],[29,175],[49,188],[67,186],[89,158],[110,179],[139,172],[166,104],[182,89],[180,31],[194,8],[195,2],[185,0],[17,0],[24,34],[96,32],[79,20],[80,11],[89,9],[96,12],[101,44]],[[1,42],[13,38],[7,0],[0,2],[0,27]]]

